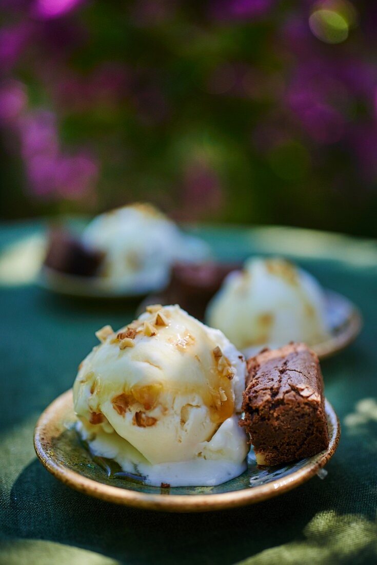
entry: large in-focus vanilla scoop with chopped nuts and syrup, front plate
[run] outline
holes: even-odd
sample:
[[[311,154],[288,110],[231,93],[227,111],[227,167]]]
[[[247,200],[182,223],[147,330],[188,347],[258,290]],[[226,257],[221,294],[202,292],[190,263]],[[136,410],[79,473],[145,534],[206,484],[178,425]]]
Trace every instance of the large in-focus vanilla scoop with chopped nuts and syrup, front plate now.
[[[218,484],[246,468],[238,426],[246,363],[222,332],[179,306],[151,306],[84,359],[73,386],[97,455],[148,484]],[[215,481],[215,482],[213,482]]]

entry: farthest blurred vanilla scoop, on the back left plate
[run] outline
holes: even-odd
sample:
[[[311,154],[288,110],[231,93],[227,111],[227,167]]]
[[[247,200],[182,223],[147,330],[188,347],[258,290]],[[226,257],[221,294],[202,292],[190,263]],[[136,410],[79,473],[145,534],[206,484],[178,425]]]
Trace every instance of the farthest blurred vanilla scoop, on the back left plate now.
[[[94,218],[82,234],[84,245],[102,251],[100,275],[119,284],[159,288],[168,282],[175,260],[200,260],[207,245],[182,233],[173,221],[149,204],[116,208]]]

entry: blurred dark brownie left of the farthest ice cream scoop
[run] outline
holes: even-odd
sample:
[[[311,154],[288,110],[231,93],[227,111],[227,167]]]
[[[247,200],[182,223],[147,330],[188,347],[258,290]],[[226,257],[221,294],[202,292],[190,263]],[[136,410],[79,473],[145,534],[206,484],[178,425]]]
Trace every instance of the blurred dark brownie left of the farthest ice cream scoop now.
[[[52,229],[45,258],[50,269],[82,277],[98,273],[103,254],[87,249],[81,241],[63,229]]]

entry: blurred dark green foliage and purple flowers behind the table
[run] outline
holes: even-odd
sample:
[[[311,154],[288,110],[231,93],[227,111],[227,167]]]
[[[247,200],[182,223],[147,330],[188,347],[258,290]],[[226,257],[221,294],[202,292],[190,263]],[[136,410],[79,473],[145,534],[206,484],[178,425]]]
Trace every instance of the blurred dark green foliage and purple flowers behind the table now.
[[[375,2],[0,5],[3,219],[151,201],[377,234]]]

